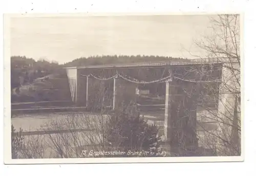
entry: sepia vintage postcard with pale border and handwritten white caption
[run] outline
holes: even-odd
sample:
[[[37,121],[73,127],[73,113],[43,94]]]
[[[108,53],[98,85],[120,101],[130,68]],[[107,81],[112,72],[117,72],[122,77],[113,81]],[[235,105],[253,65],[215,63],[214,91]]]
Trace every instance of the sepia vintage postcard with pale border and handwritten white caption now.
[[[5,14],[5,163],[243,161],[242,14]]]

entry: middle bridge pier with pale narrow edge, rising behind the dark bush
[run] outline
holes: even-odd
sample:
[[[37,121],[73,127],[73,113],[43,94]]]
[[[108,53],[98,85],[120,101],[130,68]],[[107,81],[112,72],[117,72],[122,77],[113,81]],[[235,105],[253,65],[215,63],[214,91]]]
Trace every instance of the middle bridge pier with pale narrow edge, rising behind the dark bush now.
[[[136,84],[121,78],[114,79],[113,109],[136,103]]]

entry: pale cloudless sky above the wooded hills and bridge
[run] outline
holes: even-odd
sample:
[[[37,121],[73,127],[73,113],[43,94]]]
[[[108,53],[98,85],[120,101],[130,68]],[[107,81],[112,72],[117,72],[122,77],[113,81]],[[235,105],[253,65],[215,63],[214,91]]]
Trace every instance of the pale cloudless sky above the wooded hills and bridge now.
[[[95,55],[202,56],[193,44],[210,27],[210,17],[215,16],[13,17],[11,56],[60,64]]]

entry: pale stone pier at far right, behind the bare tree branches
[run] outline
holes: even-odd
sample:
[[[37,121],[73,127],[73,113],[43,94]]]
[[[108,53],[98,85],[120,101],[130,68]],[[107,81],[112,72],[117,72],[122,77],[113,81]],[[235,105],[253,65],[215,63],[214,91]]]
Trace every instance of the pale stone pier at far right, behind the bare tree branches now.
[[[240,65],[238,63],[224,64],[222,67],[219,89],[217,135],[225,138],[226,143],[219,140],[217,152],[230,150],[230,154],[241,153],[241,81]]]

